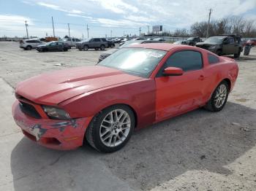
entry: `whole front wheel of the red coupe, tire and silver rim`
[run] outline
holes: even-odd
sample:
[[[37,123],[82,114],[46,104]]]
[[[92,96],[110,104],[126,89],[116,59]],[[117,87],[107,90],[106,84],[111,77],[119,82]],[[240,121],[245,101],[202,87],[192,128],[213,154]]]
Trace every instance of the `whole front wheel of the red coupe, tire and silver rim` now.
[[[91,121],[86,140],[100,152],[116,152],[127,144],[134,128],[135,116],[129,106],[110,106]]]

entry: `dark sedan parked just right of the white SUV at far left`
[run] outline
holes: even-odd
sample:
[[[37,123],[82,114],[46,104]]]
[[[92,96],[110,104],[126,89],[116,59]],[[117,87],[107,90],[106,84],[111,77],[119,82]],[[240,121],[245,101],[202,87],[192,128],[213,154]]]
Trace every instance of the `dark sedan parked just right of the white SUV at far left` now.
[[[37,51],[38,52],[67,51],[70,48],[71,47],[67,43],[59,42],[59,41],[53,41],[53,42],[48,42],[46,44],[42,44],[42,45],[37,46]]]

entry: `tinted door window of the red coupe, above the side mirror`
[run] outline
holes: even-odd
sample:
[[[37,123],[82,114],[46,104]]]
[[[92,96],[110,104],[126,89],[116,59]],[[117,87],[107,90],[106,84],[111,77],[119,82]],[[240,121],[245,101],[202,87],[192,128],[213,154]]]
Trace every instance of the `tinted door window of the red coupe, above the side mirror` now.
[[[184,71],[192,71],[203,68],[203,59],[200,52],[192,50],[184,50],[175,52],[167,59],[165,65],[160,69],[157,77],[162,76],[162,72],[167,67],[177,67]]]

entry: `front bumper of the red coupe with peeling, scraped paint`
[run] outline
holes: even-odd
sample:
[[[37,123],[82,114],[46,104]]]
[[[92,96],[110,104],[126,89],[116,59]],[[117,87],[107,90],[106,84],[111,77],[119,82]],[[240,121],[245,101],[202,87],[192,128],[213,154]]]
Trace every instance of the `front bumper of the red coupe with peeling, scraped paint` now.
[[[76,149],[83,145],[83,138],[91,117],[72,120],[36,119],[24,114],[15,101],[12,116],[23,134],[42,146],[51,149]]]

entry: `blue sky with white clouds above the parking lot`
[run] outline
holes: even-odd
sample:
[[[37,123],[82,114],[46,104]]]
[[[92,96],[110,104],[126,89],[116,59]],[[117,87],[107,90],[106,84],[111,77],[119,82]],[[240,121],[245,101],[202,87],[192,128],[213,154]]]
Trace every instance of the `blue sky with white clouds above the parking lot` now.
[[[68,34],[81,38],[122,36],[148,32],[148,26],[162,25],[166,31],[187,28],[197,21],[242,15],[256,20],[256,0],[0,0],[0,36],[25,36],[25,20],[29,36]]]

